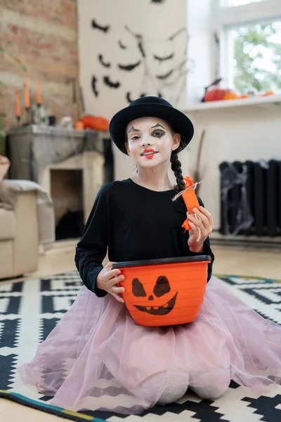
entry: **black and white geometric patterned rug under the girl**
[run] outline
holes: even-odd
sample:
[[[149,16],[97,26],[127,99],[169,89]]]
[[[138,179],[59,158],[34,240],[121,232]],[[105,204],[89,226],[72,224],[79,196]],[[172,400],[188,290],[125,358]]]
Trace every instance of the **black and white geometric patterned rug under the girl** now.
[[[281,281],[218,277],[259,314],[281,324]],[[178,402],[157,405],[141,416],[91,411],[74,413],[52,407],[48,404],[49,397],[20,381],[16,368],[32,359],[37,344],[69,309],[79,288],[81,280],[76,271],[2,286],[0,283],[0,397],[79,422],[281,421],[281,386],[268,395],[259,396],[247,388],[231,385],[230,390],[214,402],[188,392]]]

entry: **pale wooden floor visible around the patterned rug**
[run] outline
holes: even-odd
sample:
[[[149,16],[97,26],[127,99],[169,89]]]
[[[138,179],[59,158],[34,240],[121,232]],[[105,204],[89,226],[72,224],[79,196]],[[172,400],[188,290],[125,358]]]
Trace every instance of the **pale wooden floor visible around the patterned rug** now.
[[[53,250],[39,257],[39,269],[28,278],[48,276],[64,271],[72,271],[74,267],[74,241],[58,243]],[[254,250],[249,248],[213,247],[216,260],[214,274],[233,274],[240,276],[260,276],[281,279],[280,250]],[[13,283],[16,280],[2,281]],[[6,399],[0,399],[0,416],[5,422],[62,422],[58,416],[21,406]]]

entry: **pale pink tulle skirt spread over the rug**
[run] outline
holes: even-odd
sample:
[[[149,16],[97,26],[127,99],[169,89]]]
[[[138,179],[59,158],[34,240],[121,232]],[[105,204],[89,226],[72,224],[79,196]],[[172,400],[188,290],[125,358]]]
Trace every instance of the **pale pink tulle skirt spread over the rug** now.
[[[125,305],[83,287],[19,371],[54,406],[139,413],[179,385],[182,395],[204,396],[220,395],[230,380],[261,390],[280,383],[281,326],[215,277],[195,322],[162,328],[136,325]]]

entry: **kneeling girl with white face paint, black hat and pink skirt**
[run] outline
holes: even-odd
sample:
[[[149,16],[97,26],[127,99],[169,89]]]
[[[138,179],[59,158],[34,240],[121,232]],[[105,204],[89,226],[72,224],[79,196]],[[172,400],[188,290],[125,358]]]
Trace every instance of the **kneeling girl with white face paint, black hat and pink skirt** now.
[[[21,371],[51,403],[73,411],[141,412],[181,398],[187,388],[207,399],[230,381],[265,388],[281,380],[281,328],[266,321],[211,276],[213,223],[200,200],[184,233],[185,188],[178,152],[192,123],[162,98],[144,97],[110,122],[112,140],[131,155],[131,179],[105,184],[77,245],[84,283],[70,310]],[[176,186],[168,177],[169,164]],[[110,262],[103,268],[108,249]],[[112,262],[209,255],[207,293],[192,324],[143,327],[126,310]]]

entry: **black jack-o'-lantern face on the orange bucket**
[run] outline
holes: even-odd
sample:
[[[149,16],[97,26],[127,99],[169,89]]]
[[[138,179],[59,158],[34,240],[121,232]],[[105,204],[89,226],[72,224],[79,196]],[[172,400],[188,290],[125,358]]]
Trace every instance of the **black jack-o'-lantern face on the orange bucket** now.
[[[151,315],[166,315],[169,314],[174,309],[174,305],[176,303],[176,297],[178,292],[174,294],[171,298],[166,300],[166,295],[171,291],[171,286],[169,280],[166,276],[159,276],[155,286],[153,288],[153,295],[149,295],[148,300],[150,301],[151,305],[143,306],[143,305],[133,305],[141,312],[146,312]],[[145,292],[145,288],[139,279],[133,279],[132,282],[132,293],[136,298],[146,298],[147,294]],[[155,305],[154,300],[155,298],[163,298],[165,301],[162,305]]]

